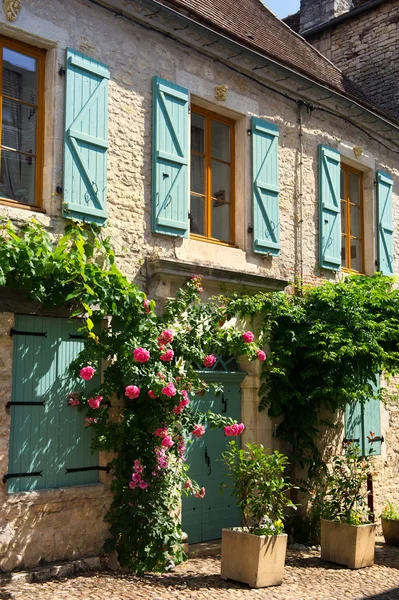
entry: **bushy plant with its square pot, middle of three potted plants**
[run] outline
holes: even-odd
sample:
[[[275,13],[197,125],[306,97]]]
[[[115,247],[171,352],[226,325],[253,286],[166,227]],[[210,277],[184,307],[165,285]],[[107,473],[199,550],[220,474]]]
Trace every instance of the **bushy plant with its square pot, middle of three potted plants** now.
[[[335,456],[325,474],[319,497],[321,558],[361,569],[374,563],[376,525],[370,522],[365,487],[371,472],[369,457],[357,445],[346,445],[343,456]]]

